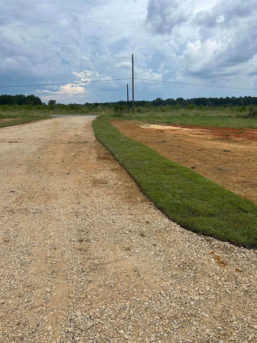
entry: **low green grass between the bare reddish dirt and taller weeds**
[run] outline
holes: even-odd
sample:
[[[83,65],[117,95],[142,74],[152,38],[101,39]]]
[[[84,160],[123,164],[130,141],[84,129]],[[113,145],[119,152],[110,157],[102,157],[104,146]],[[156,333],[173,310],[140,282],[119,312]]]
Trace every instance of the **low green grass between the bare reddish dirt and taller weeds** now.
[[[173,112],[150,112],[150,113],[117,113],[108,114],[108,118],[135,120],[149,124],[178,124],[178,125],[200,125],[218,126],[234,129],[257,129],[257,119],[245,118],[242,114],[229,114],[226,112],[212,110],[200,111],[177,110]]]

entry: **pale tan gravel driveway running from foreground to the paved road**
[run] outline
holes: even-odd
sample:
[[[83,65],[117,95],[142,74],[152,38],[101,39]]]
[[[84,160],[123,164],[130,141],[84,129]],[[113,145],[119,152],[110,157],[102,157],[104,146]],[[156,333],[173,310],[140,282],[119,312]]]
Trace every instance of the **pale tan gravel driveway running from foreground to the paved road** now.
[[[256,342],[257,253],[174,224],[91,119],[0,129],[0,342]]]

